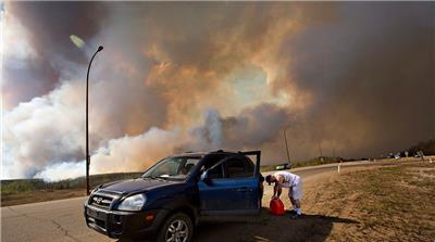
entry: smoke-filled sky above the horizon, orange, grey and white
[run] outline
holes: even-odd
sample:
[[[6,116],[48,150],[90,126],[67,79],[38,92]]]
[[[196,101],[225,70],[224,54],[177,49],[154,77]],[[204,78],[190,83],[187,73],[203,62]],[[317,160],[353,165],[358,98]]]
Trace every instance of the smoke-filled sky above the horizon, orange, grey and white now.
[[[435,136],[435,2],[3,2],[1,179],[184,151],[371,157]]]

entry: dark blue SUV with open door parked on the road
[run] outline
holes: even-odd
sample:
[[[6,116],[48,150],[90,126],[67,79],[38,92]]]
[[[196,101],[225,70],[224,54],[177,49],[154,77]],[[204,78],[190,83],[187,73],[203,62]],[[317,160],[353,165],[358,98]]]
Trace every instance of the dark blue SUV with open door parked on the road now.
[[[86,224],[110,238],[191,241],[207,216],[260,214],[260,155],[220,150],[166,157],[139,178],[97,187],[85,202]]]

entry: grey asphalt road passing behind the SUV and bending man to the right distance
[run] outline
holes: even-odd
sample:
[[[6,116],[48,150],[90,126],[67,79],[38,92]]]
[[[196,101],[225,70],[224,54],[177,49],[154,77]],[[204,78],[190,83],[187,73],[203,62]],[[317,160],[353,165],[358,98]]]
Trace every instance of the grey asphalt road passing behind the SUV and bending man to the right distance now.
[[[344,163],[341,170],[378,164]],[[311,180],[320,174],[337,173],[337,164],[296,168],[291,171],[300,175],[302,180]],[[265,188],[265,199],[269,199],[271,187]],[[76,198],[2,207],[1,241],[113,241],[87,228],[83,217],[84,201],[85,198]]]

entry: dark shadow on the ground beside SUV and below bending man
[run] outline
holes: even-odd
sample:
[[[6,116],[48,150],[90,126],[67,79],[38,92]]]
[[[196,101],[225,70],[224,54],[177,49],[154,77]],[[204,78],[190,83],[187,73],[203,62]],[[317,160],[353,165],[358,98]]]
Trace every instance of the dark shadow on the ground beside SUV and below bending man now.
[[[356,220],[326,215],[303,214],[296,219],[291,213],[271,215],[262,208],[257,216],[207,218],[195,228],[194,242],[222,241],[325,241],[334,224],[359,224]],[[119,240],[127,242],[129,240]]]

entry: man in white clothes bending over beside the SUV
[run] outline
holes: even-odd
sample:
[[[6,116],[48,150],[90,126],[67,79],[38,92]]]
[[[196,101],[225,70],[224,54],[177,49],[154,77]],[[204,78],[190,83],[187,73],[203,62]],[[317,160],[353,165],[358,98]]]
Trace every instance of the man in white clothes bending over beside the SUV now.
[[[300,209],[300,200],[302,199],[303,194],[302,180],[298,175],[287,171],[278,171],[272,175],[268,175],[265,177],[265,181],[269,184],[275,182],[272,199],[279,199],[283,188],[288,188],[288,198],[290,199],[293,207],[296,212],[296,214],[291,217],[297,218],[302,215],[302,211]]]

